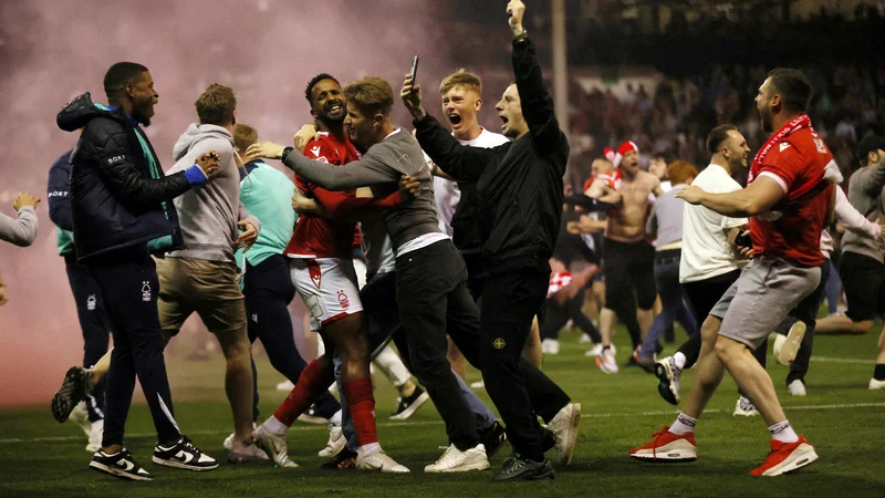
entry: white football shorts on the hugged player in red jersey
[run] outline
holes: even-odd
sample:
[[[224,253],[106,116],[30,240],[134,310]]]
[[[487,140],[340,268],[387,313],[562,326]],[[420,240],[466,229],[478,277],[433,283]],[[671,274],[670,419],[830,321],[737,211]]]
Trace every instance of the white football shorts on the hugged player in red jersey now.
[[[351,259],[291,259],[292,283],[311,313],[311,330],[363,311]]]

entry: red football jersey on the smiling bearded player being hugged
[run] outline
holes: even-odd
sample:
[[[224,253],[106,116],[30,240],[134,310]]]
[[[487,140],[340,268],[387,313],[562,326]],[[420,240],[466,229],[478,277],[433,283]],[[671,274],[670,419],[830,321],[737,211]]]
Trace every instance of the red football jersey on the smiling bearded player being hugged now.
[[[342,166],[360,159],[360,153],[346,137],[321,133],[320,139],[304,146],[304,156],[323,163]],[[308,198],[355,197],[355,190],[330,191],[304,181],[295,175],[295,185]],[[320,216],[303,215],[295,225],[285,256],[290,258],[346,258],[353,257],[354,230],[352,221],[335,221]]]

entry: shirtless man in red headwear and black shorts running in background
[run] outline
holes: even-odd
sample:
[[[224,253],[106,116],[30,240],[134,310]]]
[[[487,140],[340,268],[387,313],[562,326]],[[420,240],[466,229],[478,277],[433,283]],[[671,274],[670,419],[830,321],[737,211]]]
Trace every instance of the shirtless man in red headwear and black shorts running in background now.
[[[586,191],[590,197],[605,200],[604,197],[613,195],[614,189],[623,203],[620,209],[608,211],[603,242],[605,307],[600,314],[603,349],[596,356],[596,365],[605,373],[617,372],[611,347],[615,317],[627,328],[634,350],[654,320],[653,308],[657,297],[655,249],[645,241],[645,219],[649,195],[664,193],[655,175],[639,170],[639,148],[633,142],[624,142],[617,147],[614,165],[617,167],[614,188],[607,181],[594,180]]]

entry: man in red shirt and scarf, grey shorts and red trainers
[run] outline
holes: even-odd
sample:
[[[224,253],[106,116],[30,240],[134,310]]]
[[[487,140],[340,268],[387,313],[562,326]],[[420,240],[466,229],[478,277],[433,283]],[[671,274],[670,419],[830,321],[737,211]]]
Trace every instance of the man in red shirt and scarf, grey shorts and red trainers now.
[[[726,370],[752,401],[771,432],[771,453],[753,476],[779,476],[804,467],[818,454],[795,434],[774,384],[753,359],[778,323],[794,308],[816,312],[805,298],[821,280],[822,229],[832,218],[833,186],[824,168],[833,160],[806,113],[811,85],[796,70],[775,69],[759,87],[762,128],[777,131],[756,156],[748,186],[729,194],[688,187],[677,197],[729,217],[749,217],[754,259],[710,311],[686,408],[671,427],[631,456],[647,461],[697,458],[695,425]],[[801,340],[801,338],[800,338]]]

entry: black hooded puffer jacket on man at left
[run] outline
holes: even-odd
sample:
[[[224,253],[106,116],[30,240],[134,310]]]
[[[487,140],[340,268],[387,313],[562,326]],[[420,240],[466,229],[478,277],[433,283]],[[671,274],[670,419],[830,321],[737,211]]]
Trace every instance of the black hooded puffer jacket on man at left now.
[[[83,128],[71,156],[70,180],[79,260],[138,245],[157,253],[181,248],[170,200],[190,185],[184,173],[164,175],[150,142],[123,108],[93,104],[85,93],[55,121],[65,132]]]

